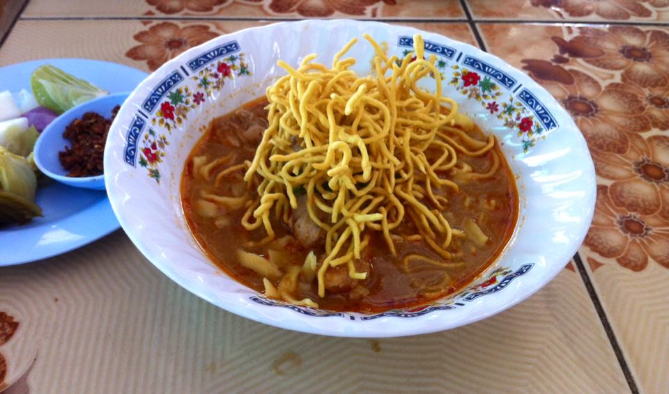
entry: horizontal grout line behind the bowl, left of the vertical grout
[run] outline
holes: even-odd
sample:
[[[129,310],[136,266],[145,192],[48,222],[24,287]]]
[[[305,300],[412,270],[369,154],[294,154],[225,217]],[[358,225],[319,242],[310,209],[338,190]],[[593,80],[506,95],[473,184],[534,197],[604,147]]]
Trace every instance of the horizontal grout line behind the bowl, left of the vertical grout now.
[[[332,18],[336,19],[336,18]],[[21,17],[22,21],[36,21],[36,20],[50,20],[50,21],[70,21],[70,20],[147,20],[147,21],[248,21],[248,22],[290,22],[305,20],[305,18],[282,18],[282,17],[146,17],[146,16],[132,16],[132,17],[116,17],[116,16],[80,16],[80,17]],[[468,22],[464,18],[456,19],[430,19],[430,18],[355,18],[353,20],[369,21],[369,22],[402,22],[402,23],[463,23]]]

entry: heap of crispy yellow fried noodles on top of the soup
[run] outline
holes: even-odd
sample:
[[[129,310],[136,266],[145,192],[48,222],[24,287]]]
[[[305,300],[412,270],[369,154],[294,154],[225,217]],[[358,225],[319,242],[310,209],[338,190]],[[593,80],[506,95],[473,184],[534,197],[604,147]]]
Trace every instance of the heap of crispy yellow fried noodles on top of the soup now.
[[[269,126],[253,161],[245,164],[245,182],[257,196],[245,201],[242,225],[266,233],[251,246],[275,239],[270,218],[289,223],[298,208],[296,194],[306,192],[309,217],[325,233],[320,266],[313,253],[305,262],[317,270],[319,297],[325,297],[324,276],[330,267],[347,265],[351,278],[367,277],[354,263],[371,231],[382,233],[396,255],[394,230],[402,221],[413,221],[419,234],[412,237],[443,259],[414,253],[403,257],[404,265],[461,264],[447,249],[453,237],[466,233],[452,229],[443,214],[448,194],[459,191],[454,177],[489,178],[500,165],[491,150],[493,136],[479,141],[463,131],[467,127],[454,127],[472,121],[442,95],[436,56],[424,58],[420,35],[414,36],[415,57],[404,58],[389,57],[370,36],[364,38],[375,50],[369,76],[358,77],[350,69],[355,59],[344,58],[356,39],[334,56],[331,67],[314,62],[316,54],[306,56],[297,69],[278,62],[288,74],[267,89]],[[418,86],[424,78],[433,79],[432,93]],[[487,152],[492,163],[484,173],[458,161],[458,155]],[[268,296],[276,292],[265,283]],[[317,306],[309,299],[282,298]]]

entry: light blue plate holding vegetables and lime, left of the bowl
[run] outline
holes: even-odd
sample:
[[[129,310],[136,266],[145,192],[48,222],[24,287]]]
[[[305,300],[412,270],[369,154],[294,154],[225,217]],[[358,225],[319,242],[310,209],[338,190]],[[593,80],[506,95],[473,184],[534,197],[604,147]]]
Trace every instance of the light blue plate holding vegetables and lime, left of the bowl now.
[[[30,90],[30,75],[43,64],[52,64],[110,93],[134,90],[148,75],[105,61],[45,59],[0,68],[0,90]],[[121,227],[105,191],[49,182],[38,188],[36,203],[44,217],[23,226],[0,226],[0,267],[66,253]]]

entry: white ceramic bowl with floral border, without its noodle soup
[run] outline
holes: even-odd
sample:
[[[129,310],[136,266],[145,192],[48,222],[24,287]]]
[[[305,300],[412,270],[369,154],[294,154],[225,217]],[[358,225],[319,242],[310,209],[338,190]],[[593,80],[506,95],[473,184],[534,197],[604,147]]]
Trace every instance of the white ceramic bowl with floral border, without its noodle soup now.
[[[282,75],[277,60],[298,64],[332,56],[369,33],[390,54],[422,33],[438,56],[446,95],[495,134],[517,175],[520,218],[502,255],[453,297],[411,310],[332,313],[269,300],[224,274],[190,234],[180,207],[186,157],[203,127],[264,94]],[[364,40],[350,56],[369,72]],[[231,76],[218,70],[225,63]],[[463,70],[475,72],[465,81]],[[468,82],[468,83],[467,83]],[[510,109],[509,109],[510,108]],[[531,133],[528,132],[528,127]],[[452,329],[494,315],[550,281],[576,253],[592,219],[595,175],[585,141],[560,104],[530,77],[475,47],[405,26],[351,20],[284,22],[220,36],[165,63],[123,104],[105,149],[105,183],[118,221],[146,258],[179,285],[249,319],[330,336],[389,337]]]

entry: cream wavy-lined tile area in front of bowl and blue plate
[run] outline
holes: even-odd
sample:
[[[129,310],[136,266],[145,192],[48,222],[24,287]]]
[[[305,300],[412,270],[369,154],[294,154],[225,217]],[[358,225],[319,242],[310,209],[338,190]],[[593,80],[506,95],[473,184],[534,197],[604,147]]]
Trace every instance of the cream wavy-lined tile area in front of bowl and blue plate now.
[[[331,338],[209,304],[161,274],[118,231],[68,255],[0,269],[5,299],[22,311],[13,312],[19,331],[0,346],[16,372],[10,389],[22,384],[17,378],[29,371],[38,343],[31,393],[626,390],[583,282],[567,271],[514,308],[459,329]],[[564,324],[570,320],[578,324]],[[332,371],[342,373],[333,379]]]

